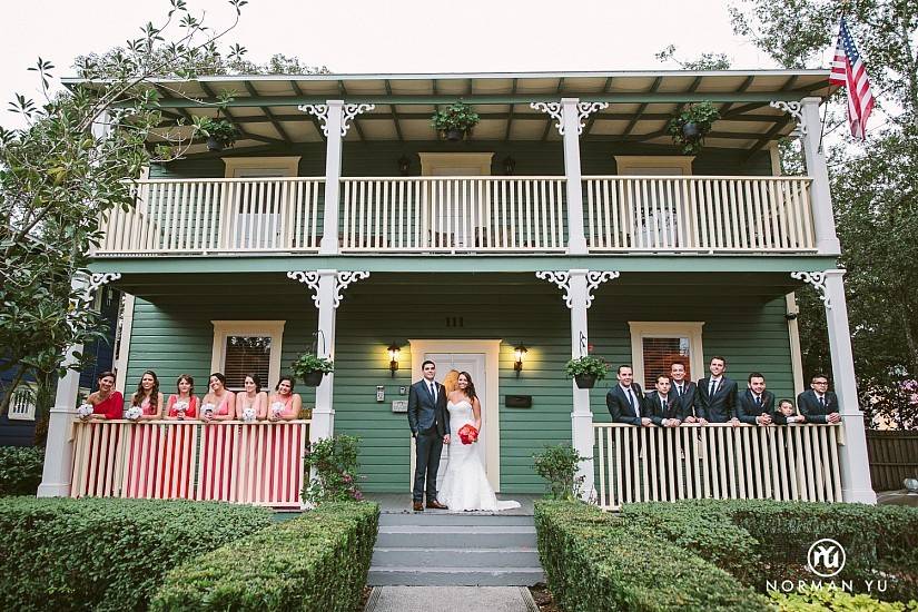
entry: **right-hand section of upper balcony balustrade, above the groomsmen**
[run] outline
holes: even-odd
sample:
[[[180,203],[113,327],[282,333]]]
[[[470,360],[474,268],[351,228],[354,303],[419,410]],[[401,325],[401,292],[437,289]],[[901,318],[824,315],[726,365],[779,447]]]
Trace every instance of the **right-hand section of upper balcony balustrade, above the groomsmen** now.
[[[586,244],[603,251],[816,251],[807,177],[584,177]]]

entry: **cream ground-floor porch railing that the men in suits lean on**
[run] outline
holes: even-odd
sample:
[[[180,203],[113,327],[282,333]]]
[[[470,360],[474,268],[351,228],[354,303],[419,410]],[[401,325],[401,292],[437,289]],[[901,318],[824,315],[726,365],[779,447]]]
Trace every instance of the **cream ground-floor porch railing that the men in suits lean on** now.
[[[841,501],[840,425],[594,423],[600,506],[687,499]]]

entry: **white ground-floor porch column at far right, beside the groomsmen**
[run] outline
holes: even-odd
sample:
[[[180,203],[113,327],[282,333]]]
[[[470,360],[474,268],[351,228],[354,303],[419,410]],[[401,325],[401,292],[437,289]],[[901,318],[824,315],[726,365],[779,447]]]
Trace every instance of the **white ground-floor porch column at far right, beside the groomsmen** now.
[[[876,504],[877,494],[873,493],[870,484],[863,413],[858,408],[858,389],[855,383],[855,359],[851,354],[851,333],[848,327],[843,275],[843,269],[826,270],[827,299],[825,300],[829,352],[832,357],[832,381],[845,427],[845,444],[840,448],[841,496],[846,502]]]

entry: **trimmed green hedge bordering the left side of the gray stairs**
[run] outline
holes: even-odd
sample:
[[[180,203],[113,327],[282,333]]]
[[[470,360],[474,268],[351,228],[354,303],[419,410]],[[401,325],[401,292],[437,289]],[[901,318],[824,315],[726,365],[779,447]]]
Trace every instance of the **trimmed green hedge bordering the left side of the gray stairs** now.
[[[353,612],[378,520],[375,503],[323,504],[172,570],[151,609]]]

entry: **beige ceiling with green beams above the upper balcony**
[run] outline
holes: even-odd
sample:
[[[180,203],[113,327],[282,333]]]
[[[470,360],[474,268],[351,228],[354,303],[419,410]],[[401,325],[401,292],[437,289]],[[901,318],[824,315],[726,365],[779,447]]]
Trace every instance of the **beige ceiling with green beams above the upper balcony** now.
[[[555,141],[561,137],[552,119],[529,105],[563,97],[610,102],[588,119],[585,140],[671,145],[665,135],[670,117],[690,102],[710,100],[722,119],[707,145],[757,150],[794,128],[792,117],[769,102],[825,99],[836,89],[828,76],[828,70],[211,76],[161,79],[156,88],[162,97],[160,132],[184,138],[190,130],[179,122],[216,116],[218,98],[231,96],[225,115],[244,135],[234,151],[323,141],[318,120],[297,106],[328,99],[376,105],[357,116],[347,141],[433,140],[431,115],[460,99],[482,119],[473,140]],[[68,86],[80,82],[65,80]],[[205,150],[196,142],[189,152]]]

